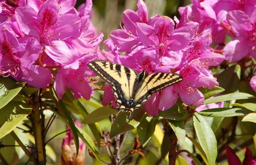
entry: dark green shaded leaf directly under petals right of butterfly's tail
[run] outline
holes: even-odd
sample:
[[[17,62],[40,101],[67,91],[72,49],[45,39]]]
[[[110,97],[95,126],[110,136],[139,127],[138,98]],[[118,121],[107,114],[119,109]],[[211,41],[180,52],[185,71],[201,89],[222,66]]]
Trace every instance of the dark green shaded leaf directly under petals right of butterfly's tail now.
[[[175,104],[166,111],[158,111],[158,116],[154,118],[171,119],[171,120],[184,120],[188,116],[188,111],[181,104]]]

